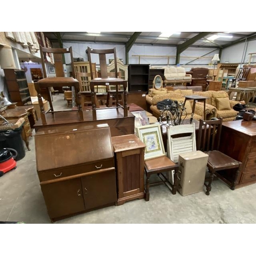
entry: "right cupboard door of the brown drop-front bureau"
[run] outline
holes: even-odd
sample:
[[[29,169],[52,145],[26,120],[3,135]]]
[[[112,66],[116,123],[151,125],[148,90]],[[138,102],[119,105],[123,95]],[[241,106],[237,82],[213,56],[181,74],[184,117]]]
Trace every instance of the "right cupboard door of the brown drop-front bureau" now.
[[[117,200],[115,169],[92,174],[81,179],[86,210],[115,204]]]

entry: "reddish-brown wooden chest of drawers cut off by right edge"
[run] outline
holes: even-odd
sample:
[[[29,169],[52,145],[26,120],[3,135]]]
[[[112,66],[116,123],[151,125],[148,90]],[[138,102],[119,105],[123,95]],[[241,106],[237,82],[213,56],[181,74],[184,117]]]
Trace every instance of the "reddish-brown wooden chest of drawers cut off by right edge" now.
[[[256,183],[256,121],[236,120],[222,123],[220,151],[242,162],[237,186]],[[233,172],[218,172],[227,184]]]

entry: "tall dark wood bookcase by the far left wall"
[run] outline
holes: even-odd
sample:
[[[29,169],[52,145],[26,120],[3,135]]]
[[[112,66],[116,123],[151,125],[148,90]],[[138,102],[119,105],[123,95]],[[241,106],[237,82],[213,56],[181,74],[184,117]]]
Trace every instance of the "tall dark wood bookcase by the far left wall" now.
[[[30,99],[28,82],[23,70],[4,69],[10,100],[23,106]]]

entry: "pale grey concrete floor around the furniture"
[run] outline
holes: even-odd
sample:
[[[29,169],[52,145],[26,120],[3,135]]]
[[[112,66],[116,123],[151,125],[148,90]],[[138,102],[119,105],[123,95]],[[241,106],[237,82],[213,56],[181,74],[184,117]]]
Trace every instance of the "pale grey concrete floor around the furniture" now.
[[[63,94],[54,95],[55,109],[68,109]],[[69,107],[69,109],[71,106]],[[34,132],[31,151],[17,168],[0,178],[0,221],[51,223],[36,173]],[[50,159],[49,159],[50,160]],[[165,185],[150,188],[150,201],[134,200],[57,223],[256,223],[256,184],[231,190],[221,180],[204,192],[172,195]]]

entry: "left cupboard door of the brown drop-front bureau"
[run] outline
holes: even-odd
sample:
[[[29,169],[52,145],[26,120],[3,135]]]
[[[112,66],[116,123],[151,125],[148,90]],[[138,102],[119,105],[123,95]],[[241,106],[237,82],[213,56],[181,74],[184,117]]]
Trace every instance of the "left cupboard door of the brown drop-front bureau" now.
[[[51,219],[84,211],[80,179],[43,184],[41,190]]]

